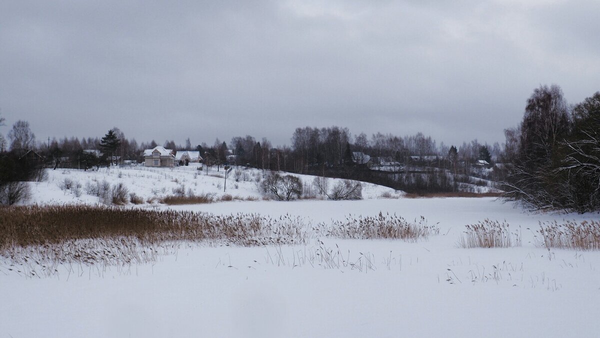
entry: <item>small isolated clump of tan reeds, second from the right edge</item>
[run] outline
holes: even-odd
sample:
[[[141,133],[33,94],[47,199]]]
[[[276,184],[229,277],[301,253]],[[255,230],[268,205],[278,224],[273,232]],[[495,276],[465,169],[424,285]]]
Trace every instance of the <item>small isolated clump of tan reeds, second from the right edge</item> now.
[[[458,240],[460,248],[509,248],[520,247],[521,232],[511,232],[506,221],[491,221],[487,218],[477,224],[466,226],[465,235]]]

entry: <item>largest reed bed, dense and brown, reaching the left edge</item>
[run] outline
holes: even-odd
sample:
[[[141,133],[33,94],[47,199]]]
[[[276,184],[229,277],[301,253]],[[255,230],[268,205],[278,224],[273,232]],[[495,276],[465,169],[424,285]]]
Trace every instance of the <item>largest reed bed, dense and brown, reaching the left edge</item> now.
[[[61,264],[155,262],[182,243],[302,244],[309,238],[307,229],[289,215],[273,219],[85,205],[1,207],[0,256],[7,270],[52,274]]]

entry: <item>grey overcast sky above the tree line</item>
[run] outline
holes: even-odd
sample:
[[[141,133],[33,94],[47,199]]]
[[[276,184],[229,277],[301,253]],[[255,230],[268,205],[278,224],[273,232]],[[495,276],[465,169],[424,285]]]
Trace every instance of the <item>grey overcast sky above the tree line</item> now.
[[[600,1],[2,1],[0,114],[38,140],[290,144],[300,126],[503,141],[600,90]]]

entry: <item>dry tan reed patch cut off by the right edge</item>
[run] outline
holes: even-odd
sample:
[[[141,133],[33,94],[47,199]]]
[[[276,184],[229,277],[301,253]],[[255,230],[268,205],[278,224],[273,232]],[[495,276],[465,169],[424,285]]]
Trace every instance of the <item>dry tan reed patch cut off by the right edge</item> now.
[[[542,235],[538,245],[546,248],[600,250],[600,221],[557,221],[539,223]]]

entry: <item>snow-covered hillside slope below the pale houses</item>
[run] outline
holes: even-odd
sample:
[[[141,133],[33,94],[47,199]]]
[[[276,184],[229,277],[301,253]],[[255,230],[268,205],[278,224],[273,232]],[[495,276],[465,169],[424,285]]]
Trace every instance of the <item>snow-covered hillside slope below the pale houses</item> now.
[[[83,171],[75,169],[57,169],[47,170],[49,178],[44,182],[32,182],[32,199],[28,203],[46,204],[46,203],[98,203],[98,197],[88,193],[87,186],[94,186],[97,182],[108,182],[111,186],[118,183],[124,184],[130,192],[134,192],[144,201],[151,197],[165,197],[173,195],[174,189],[182,188],[187,193],[193,192],[199,194],[215,194],[218,196],[230,194],[232,196],[245,198],[261,198],[256,179],[263,177],[261,170],[253,168],[239,167],[238,174],[233,170],[227,176],[227,182],[224,179],[224,170],[221,167],[209,168],[208,173],[204,170],[196,170],[196,164],[192,163],[188,167],[175,168],[146,168],[143,166],[119,167],[119,168],[100,168],[99,171]],[[265,174],[269,172],[266,171]],[[286,173],[282,173],[286,174]],[[314,176],[293,174],[301,178],[304,186],[312,185]],[[236,182],[236,178],[238,181]],[[61,190],[60,186],[64,181],[71,180],[80,183],[82,194],[77,197],[70,190]],[[331,179],[330,185],[334,185],[339,179]],[[225,189],[225,191],[224,191]],[[385,186],[374,185],[372,183],[363,183],[363,198],[380,198],[382,194],[388,193],[391,196],[400,197],[401,191],[387,188]]]

